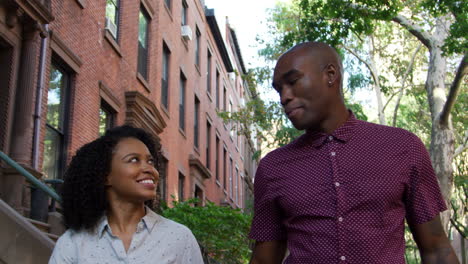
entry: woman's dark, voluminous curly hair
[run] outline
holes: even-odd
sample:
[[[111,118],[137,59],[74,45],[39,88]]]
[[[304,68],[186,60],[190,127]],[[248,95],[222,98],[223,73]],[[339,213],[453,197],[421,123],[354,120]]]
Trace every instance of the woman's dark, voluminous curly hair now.
[[[109,202],[106,196],[106,178],[111,170],[115,146],[124,138],[143,142],[159,168],[160,144],[141,128],[129,125],[114,127],[82,146],[72,158],[61,188],[65,226],[73,230],[92,230],[105,214]],[[149,201],[147,205],[151,205]]]

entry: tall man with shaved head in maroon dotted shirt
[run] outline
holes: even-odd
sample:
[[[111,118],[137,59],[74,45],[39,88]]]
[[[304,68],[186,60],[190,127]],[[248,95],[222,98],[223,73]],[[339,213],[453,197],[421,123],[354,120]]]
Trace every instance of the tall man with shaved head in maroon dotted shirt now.
[[[269,153],[255,177],[252,264],[405,263],[407,219],[423,263],[458,263],[429,155],[410,132],[357,120],[342,65],[324,43],[278,60],[273,87],[306,133]]]

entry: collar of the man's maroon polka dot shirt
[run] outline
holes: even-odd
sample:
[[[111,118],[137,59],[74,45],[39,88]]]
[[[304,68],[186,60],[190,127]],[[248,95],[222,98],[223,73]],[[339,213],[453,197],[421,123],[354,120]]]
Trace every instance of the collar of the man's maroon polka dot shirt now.
[[[322,146],[326,142],[327,138],[330,136],[343,143],[348,142],[351,139],[354,133],[356,124],[359,121],[358,119],[356,119],[356,116],[351,110],[348,110],[348,112],[349,112],[349,117],[346,120],[346,122],[344,122],[340,127],[335,129],[335,131],[333,131],[333,133],[331,134],[326,134],[323,132],[315,132],[315,131],[305,133],[304,137],[307,140],[307,142],[311,146],[316,147],[316,148]]]

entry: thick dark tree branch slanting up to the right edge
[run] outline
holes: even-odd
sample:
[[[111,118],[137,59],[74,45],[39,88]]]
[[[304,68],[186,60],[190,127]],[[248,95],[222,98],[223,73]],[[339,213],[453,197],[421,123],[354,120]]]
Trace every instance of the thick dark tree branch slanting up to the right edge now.
[[[468,53],[465,53],[463,59],[460,62],[460,65],[457,69],[457,74],[453,79],[452,85],[450,85],[450,91],[447,97],[447,101],[445,102],[444,108],[440,113],[439,122],[442,126],[447,126],[448,118],[450,115],[450,111],[452,110],[453,106],[455,105],[455,100],[457,99],[458,91],[460,90],[460,86],[463,80],[463,77],[468,73]]]

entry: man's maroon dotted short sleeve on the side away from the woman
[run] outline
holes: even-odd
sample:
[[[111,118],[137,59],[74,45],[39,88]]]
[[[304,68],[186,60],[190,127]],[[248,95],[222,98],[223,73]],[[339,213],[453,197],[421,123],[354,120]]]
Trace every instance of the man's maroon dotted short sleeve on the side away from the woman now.
[[[406,218],[414,224],[422,224],[447,210],[447,206],[429,153],[421,140],[416,136],[414,138],[410,151],[413,162],[410,167],[409,189],[406,193]]]

